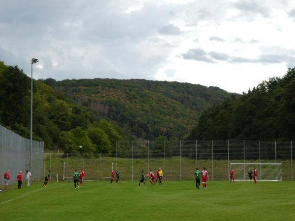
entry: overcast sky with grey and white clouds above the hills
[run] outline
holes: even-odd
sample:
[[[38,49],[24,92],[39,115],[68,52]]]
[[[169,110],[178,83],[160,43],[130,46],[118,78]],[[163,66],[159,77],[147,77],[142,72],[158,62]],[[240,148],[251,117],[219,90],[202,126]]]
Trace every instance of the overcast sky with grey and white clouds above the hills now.
[[[295,67],[295,0],[1,0],[0,60],[33,78],[241,93]]]

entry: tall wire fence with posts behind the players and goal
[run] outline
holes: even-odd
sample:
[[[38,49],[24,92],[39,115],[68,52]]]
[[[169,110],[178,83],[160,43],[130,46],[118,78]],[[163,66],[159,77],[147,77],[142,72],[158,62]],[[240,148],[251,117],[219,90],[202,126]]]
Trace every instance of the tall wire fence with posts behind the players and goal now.
[[[106,180],[113,164],[121,173],[120,180],[139,180],[142,170],[156,173],[159,167],[163,180],[190,180],[198,166],[206,167],[211,180],[228,180],[231,163],[251,163],[281,164],[272,168],[280,170],[282,180],[293,180],[293,145],[292,141],[118,140],[112,154],[48,153],[44,173],[51,169],[59,173],[59,180],[70,180],[75,169],[84,169],[86,180]],[[257,168],[263,171],[261,165]],[[247,174],[249,167],[243,169]]]

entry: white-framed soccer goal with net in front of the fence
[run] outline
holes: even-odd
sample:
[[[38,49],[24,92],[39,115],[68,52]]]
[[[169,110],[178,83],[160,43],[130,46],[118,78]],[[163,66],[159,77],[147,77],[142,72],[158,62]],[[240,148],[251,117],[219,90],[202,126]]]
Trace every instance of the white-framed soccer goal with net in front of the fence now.
[[[262,181],[282,180],[282,164],[243,164],[231,163],[231,168],[235,171],[235,181],[250,180],[249,173],[257,169],[257,179]]]

